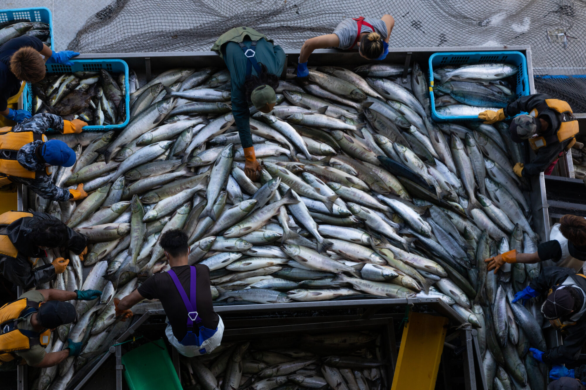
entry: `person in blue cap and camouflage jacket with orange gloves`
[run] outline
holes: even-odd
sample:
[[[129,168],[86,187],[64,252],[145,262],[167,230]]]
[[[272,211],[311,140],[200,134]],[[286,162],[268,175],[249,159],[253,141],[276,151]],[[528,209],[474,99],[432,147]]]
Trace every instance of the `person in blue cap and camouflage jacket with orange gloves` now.
[[[14,127],[0,128],[0,187],[25,184],[47,200],[79,200],[87,196],[83,184],[75,190],[57,187],[51,180],[53,166],[73,166],[76,155],[67,143],[44,134],[53,129],[62,134],[79,134],[87,123],[80,119],[65,121],[59,115],[36,114]]]

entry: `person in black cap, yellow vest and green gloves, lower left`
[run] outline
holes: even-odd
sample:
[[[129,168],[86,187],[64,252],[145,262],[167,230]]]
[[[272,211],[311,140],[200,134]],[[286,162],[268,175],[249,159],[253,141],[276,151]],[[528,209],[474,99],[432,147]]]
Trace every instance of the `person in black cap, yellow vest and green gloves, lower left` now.
[[[53,367],[67,357],[79,356],[81,342],[67,340],[61,351],[46,353],[52,331],[73,322],[76,310],[68,300],[94,300],[98,290],[31,290],[0,308],[0,371],[19,364]]]

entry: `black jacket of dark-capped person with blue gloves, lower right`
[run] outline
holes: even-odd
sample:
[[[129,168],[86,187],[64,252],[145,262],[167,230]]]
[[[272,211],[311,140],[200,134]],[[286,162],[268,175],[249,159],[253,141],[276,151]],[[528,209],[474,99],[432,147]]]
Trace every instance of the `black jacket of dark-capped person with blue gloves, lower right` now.
[[[576,275],[571,268],[543,267],[539,276],[533,279],[529,286],[542,294],[547,293],[551,286],[560,285],[568,276],[586,293],[586,278]],[[574,325],[564,327],[563,333],[564,344],[545,351],[541,357],[544,363],[567,364],[577,360],[586,341],[586,315],[578,319]]]

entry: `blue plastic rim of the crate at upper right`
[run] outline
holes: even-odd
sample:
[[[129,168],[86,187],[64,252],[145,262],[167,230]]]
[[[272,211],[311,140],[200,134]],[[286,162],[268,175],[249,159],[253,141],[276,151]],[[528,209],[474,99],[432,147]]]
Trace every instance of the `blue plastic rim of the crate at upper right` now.
[[[455,53],[434,53],[430,56],[430,98],[431,98],[431,118],[436,122],[456,122],[456,121],[480,121],[475,116],[455,116],[441,115],[435,111],[434,93],[434,67],[440,68],[446,65],[473,65],[473,64],[493,64],[506,63],[512,64],[519,68],[515,74],[516,98],[529,95],[529,74],[527,72],[527,59],[521,52],[455,52]]]

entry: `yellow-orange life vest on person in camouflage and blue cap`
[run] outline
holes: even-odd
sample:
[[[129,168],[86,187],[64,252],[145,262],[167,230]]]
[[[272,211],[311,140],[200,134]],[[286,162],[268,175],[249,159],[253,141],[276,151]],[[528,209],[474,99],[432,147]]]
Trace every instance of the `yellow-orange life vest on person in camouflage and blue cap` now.
[[[0,128],[0,186],[11,183],[10,176],[35,179],[36,172],[28,170],[16,160],[18,150],[33,141],[47,141],[47,137],[32,131],[15,133],[10,127]],[[49,170],[46,170],[49,175]]]

